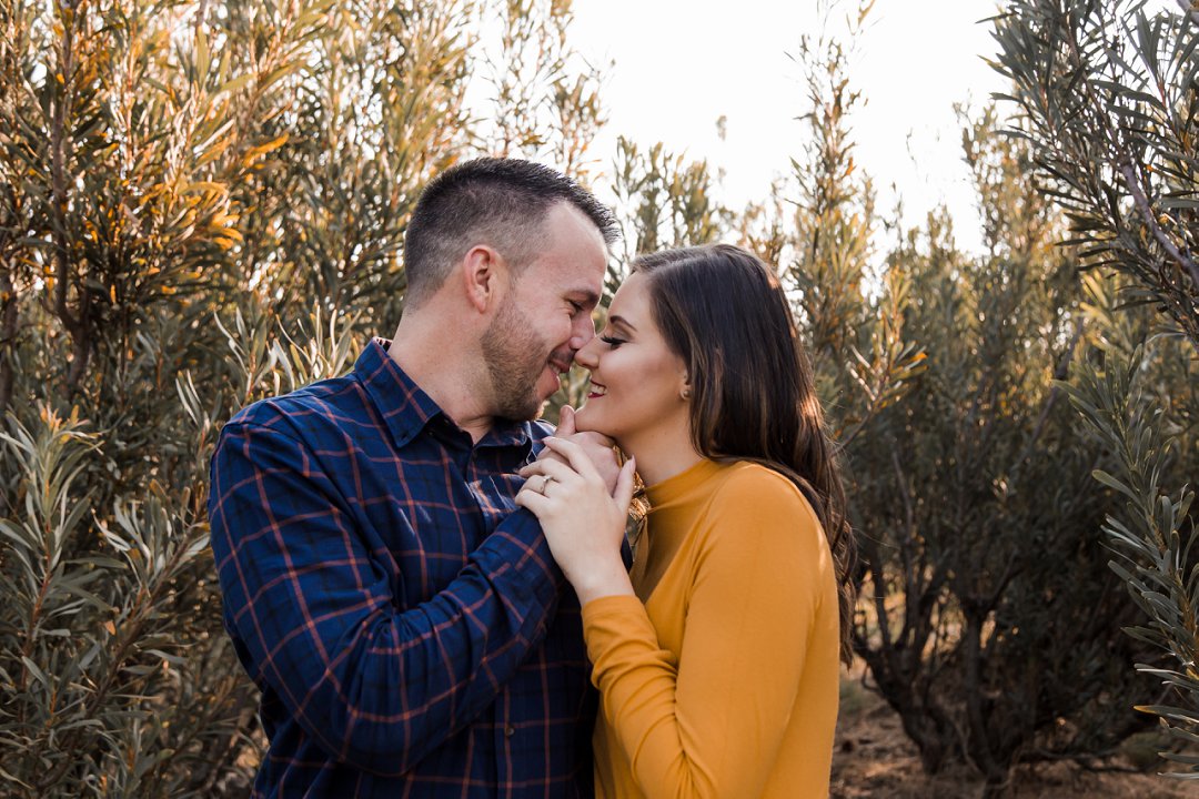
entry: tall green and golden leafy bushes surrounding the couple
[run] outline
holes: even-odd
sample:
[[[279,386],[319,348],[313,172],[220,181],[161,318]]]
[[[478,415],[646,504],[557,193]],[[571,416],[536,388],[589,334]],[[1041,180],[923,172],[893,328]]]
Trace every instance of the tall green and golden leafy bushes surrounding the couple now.
[[[245,793],[261,736],[206,550],[215,435],[390,334],[411,205],[478,153],[608,175],[609,287],[713,240],[778,266],[848,467],[855,646],[926,769],[998,794],[1017,763],[1102,763],[1149,722],[1133,704],[1194,764],[1199,23],[1006,10],[1012,95],[962,111],[970,255],[944,210],[880,212],[854,161],[869,4],[803,41],[782,102],[807,135],[730,208],[670,143],[589,151],[602,74],[566,0],[0,0],[6,792]]]

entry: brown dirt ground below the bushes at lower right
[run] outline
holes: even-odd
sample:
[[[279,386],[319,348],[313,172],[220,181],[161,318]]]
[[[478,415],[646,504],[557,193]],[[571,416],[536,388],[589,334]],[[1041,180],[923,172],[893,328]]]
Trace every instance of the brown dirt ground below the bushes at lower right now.
[[[926,776],[915,745],[904,736],[899,716],[856,677],[842,678],[842,710],[833,750],[831,799],[977,799],[982,779],[965,768]],[[1129,747],[1107,768],[1089,771],[1073,763],[1055,763],[1016,771],[1011,795],[1018,799],[1199,798],[1199,782],[1158,776],[1162,761],[1152,742]],[[1144,771],[1138,770],[1145,769]]]

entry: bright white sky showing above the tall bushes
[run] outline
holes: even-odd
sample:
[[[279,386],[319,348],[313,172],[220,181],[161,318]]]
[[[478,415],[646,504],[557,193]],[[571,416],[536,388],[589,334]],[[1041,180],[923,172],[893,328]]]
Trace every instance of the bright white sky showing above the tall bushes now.
[[[723,200],[734,208],[765,195],[772,176],[800,156],[806,111],[800,37],[820,32],[815,0],[574,0],[573,47],[608,65],[603,98],[609,123],[590,155],[610,171],[616,137],[663,141],[691,159],[724,169]],[[843,0],[831,30],[839,34]],[[995,0],[878,0],[850,68],[867,98],[850,119],[857,163],[874,177],[878,210],[890,213],[891,186],[905,224],[920,224],[944,202],[958,246],[981,248],[977,213],[962,161],[954,103],[984,104],[1004,91],[981,56],[995,46]],[[721,141],[716,120],[728,117]]]

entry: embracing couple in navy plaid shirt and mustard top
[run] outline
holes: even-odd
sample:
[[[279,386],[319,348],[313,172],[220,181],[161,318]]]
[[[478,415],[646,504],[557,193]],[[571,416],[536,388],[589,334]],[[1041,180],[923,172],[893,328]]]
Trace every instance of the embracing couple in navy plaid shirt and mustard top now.
[[[615,238],[552,169],[454,167],[393,338],[224,426],[253,795],[827,795],[852,539],[787,298],[740,248],[653,253],[596,335]]]

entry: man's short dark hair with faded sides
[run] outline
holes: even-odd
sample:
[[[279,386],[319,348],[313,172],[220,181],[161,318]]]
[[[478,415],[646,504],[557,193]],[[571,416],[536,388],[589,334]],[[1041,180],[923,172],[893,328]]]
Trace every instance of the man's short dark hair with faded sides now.
[[[611,211],[558,170],[517,158],[476,158],[426,186],[404,234],[405,304],[432,297],[477,244],[494,247],[514,268],[544,241],[546,214],[570,202],[595,223],[607,244],[620,236]]]

